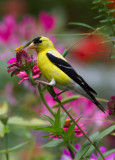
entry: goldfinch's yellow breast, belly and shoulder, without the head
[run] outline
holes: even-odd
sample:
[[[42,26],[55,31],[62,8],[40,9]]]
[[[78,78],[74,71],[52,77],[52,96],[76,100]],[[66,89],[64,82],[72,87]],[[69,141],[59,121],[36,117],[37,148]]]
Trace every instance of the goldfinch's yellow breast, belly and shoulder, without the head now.
[[[56,81],[57,88],[63,88],[63,85],[70,84],[71,78],[66,75],[61,69],[53,64],[47,57],[48,50],[42,51],[37,55],[37,64],[42,75],[50,82],[52,78]],[[56,50],[51,50],[55,56],[64,59]],[[65,59],[64,59],[65,60]],[[60,86],[60,87],[59,87]],[[62,86],[62,87],[61,87]]]

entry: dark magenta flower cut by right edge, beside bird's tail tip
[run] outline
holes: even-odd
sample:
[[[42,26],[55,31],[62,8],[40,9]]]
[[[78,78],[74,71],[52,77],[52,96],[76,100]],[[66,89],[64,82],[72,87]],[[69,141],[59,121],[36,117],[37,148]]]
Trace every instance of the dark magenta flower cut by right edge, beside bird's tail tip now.
[[[107,103],[109,115],[115,114],[115,96],[110,98],[110,101]]]

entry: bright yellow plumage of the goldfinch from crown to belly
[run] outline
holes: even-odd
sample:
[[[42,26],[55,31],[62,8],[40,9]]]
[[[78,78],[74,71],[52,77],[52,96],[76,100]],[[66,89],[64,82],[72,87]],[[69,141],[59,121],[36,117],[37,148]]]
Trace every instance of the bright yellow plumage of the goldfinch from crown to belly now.
[[[42,38],[43,41],[43,38]],[[42,75],[50,82],[53,79],[56,81],[56,87],[59,89],[65,89],[65,85],[70,84],[72,81],[70,77],[61,71],[56,65],[54,65],[46,56],[46,53],[52,53],[58,58],[65,60],[65,58],[54,48],[52,42],[44,40],[44,47],[37,49],[37,64],[42,72]],[[66,60],[65,60],[66,61]]]

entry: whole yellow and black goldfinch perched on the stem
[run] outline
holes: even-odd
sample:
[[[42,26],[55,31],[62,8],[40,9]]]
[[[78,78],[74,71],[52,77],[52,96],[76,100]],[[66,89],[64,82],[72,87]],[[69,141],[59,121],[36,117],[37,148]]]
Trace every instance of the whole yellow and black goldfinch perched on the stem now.
[[[61,90],[71,90],[90,99],[104,112],[102,105],[96,100],[97,94],[85,80],[73,69],[69,62],[55,49],[52,41],[47,37],[37,37],[29,45],[29,49],[37,52],[38,67],[49,83]],[[41,82],[41,81],[40,81]]]

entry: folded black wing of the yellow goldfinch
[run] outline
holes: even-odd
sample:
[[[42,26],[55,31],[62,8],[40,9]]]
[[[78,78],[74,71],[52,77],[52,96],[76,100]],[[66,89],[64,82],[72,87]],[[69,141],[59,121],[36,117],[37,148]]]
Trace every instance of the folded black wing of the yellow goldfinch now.
[[[85,81],[84,79],[77,74],[73,67],[66,61],[61,58],[54,56],[51,53],[47,53],[49,60],[60,68],[64,73],[66,73],[73,81],[79,84],[86,92],[91,92],[97,94]]]

